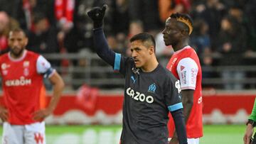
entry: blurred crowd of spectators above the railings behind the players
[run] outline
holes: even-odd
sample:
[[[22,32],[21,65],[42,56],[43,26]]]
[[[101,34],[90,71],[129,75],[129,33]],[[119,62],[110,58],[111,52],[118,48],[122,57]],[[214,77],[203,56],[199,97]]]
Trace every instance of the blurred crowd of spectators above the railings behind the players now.
[[[173,50],[164,45],[161,31],[166,18],[180,12],[193,18],[190,45],[198,52],[203,67],[255,64],[255,59],[250,58],[256,52],[255,0],[1,0],[0,52],[8,51],[8,33],[16,27],[27,31],[27,48],[34,52],[93,52],[92,21],[86,13],[102,4],[109,7],[105,34],[115,52],[129,55],[129,38],[148,32],[155,36],[156,54],[166,65]],[[65,62],[51,63],[65,65]],[[74,61],[73,65],[85,62]],[[214,74],[203,72],[203,77]],[[223,82],[247,77],[245,72],[229,68],[218,75]],[[225,84],[225,89],[244,87]]]

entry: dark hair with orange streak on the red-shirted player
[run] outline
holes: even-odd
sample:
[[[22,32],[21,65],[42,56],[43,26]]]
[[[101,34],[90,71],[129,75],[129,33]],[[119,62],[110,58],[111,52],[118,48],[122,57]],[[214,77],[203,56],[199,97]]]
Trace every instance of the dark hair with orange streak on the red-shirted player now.
[[[191,16],[189,16],[186,13],[172,13],[170,18],[176,18],[177,21],[180,21],[181,23],[184,23],[188,27],[188,33],[189,35],[193,31],[193,20]]]

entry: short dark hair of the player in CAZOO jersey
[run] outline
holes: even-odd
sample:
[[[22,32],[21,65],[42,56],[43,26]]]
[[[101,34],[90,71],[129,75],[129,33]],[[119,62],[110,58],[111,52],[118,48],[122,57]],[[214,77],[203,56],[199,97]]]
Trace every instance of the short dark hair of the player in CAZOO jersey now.
[[[134,35],[131,39],[130,39],[130,43],[134,42],[135,40],[141,40],[142,43],[145,42],[149,42],[150,45],[145,45],[147,47],[149,46],[154,46],[154,52],[156,52],[156,41],[154,40],[153,35],[150,35],[149,33],[139,33],[137,35]]]

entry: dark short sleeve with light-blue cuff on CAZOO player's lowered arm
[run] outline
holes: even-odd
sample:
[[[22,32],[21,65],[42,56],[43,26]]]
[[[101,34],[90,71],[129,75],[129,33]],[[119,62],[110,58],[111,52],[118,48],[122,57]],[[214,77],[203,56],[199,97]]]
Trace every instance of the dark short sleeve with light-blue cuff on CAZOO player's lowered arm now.
[[[176,111],[178,109],[183,109],[181,102],[181,85],[178,79],[172,79],[166,88],[166,106],[169,111]]]

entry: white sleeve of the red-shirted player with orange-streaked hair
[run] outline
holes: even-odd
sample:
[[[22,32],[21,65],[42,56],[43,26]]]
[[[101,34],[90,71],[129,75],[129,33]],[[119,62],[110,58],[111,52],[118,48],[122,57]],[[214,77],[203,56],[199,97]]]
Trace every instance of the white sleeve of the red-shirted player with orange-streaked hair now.
[[[181,82],[181,89],[196,89],[198,65],[190,57],[183,58],[176,67]]]

